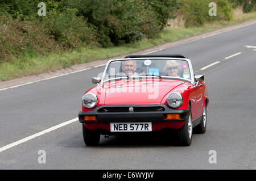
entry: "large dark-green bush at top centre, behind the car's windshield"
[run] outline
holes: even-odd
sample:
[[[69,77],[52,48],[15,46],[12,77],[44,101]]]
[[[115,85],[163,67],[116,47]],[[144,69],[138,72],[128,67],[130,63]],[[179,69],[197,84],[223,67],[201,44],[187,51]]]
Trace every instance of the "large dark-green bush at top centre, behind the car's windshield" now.
[[[160,31],[154,11],[144,1],[76,0],[69,6],[97,28],[103,47],[152,38]]]

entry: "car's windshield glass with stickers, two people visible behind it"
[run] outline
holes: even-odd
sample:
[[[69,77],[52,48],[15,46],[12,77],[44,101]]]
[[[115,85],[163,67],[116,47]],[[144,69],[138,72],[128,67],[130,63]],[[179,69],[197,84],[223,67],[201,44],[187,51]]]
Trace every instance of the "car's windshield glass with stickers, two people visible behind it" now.
[[[118,60],[109,63],[105,81],[122,78],[173,78],[191,80],[189,64],[185,60],[139,59]]]

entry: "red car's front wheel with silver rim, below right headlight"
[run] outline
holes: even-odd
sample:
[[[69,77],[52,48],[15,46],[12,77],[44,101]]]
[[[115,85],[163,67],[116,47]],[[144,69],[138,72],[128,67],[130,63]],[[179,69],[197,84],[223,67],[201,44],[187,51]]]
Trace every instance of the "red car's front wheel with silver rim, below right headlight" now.
[[[192,142],[192,113],[191,107],[188,106],[189,116],[185,120],[185,124],[177,131],[177,142],[180,146],[189,146]],[[190,134],[189,134],[190,133]]]

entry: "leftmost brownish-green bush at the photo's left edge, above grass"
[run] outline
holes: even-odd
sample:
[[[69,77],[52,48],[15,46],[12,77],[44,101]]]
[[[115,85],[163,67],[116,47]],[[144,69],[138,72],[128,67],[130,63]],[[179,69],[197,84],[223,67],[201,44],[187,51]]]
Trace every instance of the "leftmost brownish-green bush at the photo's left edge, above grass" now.
[[[11,61],[12,56],[24,53],[45,54],[57,44],[37,22],[14,19],[9,14],[0,16],[0,60]]]

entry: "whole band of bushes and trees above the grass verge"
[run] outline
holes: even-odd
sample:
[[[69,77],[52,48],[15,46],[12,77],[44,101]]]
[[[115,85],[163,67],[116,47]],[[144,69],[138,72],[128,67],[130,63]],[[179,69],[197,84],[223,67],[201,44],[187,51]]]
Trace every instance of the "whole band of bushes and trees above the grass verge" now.
[[[232,19],[232,10],[246,0],[216,0],[218,15],[209,16],[212,0],[44,0],[46,16],[39,16],[42,0],[0,0],[0,62],[26,53],[47,54],[80,47],[108,47],[153,39],[176,15],[185,26]]]

